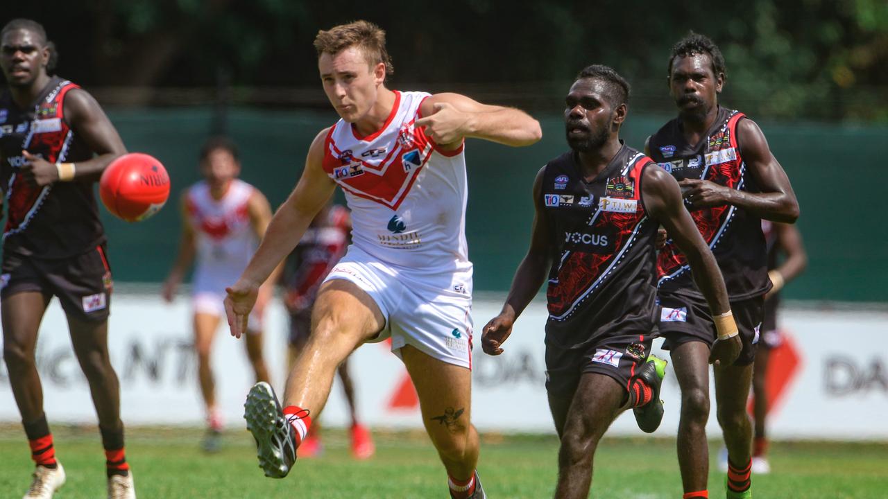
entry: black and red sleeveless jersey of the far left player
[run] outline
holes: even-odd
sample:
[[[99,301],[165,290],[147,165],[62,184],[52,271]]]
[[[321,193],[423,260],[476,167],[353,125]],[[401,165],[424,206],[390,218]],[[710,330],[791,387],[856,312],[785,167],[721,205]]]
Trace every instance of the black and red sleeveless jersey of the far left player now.
[[[36,187],[18,174],[22,149],[48,162],[81,162],[90,148],[65,121],[65,95],[79,88],[53,76],[34,103],[20,109],[0,96],[0,189],[5,194],[4,254],[65,258],[105,242],[93,181],[55,182]]]

